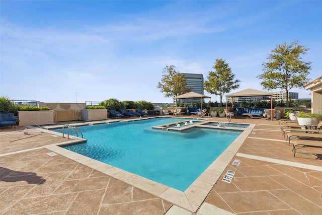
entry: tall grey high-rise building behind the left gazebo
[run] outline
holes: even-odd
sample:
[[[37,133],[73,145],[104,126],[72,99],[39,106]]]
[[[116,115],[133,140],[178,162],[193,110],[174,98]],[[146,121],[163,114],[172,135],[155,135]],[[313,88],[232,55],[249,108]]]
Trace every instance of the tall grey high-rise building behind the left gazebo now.
[[[182,73],[186,77],[187,87],[191,88],[193,92],[203,94],[203,75],[202,74],[191,74],[191,73]],[[191,104],[191,102],[194,102],[195,104],[200,102],[200,99],[185,99],[179,100],[179,103],[185,102],[188,105]]]

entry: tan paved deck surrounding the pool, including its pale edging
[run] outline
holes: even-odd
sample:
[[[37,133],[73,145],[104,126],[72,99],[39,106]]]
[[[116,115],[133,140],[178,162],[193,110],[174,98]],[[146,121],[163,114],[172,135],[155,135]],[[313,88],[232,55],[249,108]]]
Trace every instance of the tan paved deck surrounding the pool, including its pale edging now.
[[[236,149],[214,162],[186,192],[56,146],[80,138],[5,127],[0,132],[0,213],[322,214],[322,149],[299,149],[294,158],[278,121],[232,122],[253,126]],[[47,154],[51,152],[56,155]],[[228,170],[235,172],[230,183],[222,181]]]

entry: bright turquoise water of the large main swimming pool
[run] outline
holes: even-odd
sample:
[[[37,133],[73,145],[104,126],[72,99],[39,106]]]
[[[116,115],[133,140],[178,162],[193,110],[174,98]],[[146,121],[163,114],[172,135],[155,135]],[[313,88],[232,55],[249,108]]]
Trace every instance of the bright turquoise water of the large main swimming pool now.
[[[62,147],[185,191],[241,131],[193,128],[171,132],[151,129],[155,125],[182,120],[155,118],[79,126],[77,128],[88,141]],[[55,131],[61,132],[61,129]]]

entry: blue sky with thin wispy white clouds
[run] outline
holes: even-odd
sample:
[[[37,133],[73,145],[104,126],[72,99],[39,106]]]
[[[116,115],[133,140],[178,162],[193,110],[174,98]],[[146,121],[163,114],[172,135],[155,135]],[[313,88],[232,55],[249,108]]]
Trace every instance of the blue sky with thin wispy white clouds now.
[[[310,48],[308,77],[322,75],[322,1],[0,3],[0,90],[11,99],[172,103],[156,88],[165,66],[206,80],[217,58],[240,80],[230,93],[263,90],[262,62],[293,40]]]

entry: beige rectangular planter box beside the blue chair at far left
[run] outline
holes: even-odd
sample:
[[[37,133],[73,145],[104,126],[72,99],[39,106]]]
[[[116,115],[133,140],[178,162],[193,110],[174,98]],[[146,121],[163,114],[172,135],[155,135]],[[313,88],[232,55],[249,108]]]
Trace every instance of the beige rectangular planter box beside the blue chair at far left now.
[[[46,125],[54,123],[53,110],[18,111],[19,126]]]

